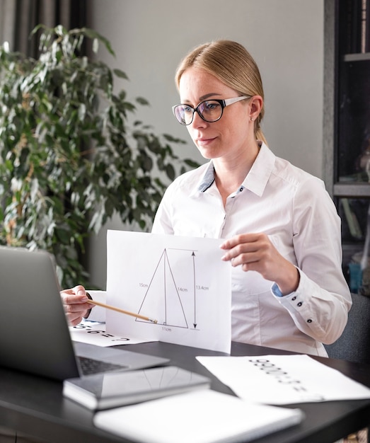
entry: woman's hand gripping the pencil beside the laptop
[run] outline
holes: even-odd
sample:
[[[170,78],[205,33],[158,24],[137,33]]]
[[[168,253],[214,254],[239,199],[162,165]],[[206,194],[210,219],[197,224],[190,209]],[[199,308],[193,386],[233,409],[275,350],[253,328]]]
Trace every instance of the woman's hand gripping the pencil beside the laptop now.
[[[64,289],[60,292],[64,311],[67,316],[69,325],[78,325],[82,318],[87,318],[90,313],[92,304],[89,304],[86,290],[83,286],[75,286],[71,289]]]

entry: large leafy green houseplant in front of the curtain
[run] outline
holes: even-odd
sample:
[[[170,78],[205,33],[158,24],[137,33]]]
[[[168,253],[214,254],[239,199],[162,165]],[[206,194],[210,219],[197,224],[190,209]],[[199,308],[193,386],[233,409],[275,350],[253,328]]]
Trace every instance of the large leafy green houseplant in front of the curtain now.
[[[183,141],[134,121],[147,101],[115,93],[124,71],[81,54],[99,44],[114,54],[102,35],[42,25],[35,34],[37,59],[0,47],[0,244],[50,251],[70,287],[88,283],[89,233],[115,212],[147,229],[169,180],[196,164],[174,154]]]

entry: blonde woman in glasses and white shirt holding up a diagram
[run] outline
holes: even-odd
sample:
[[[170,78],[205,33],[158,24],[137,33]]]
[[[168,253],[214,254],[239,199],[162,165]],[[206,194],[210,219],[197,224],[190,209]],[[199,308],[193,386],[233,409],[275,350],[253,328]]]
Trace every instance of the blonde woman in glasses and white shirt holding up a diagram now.
[[[351,297],[340,218],[323,182],[267,147],[260,72],[243,46],[201,45],[175,80],[173,113],[209,162],[168,187],[153,232],[225,238],[233,340],[326,355],[323,343],[340,337]],[[70,321],[91,307],[80,303],[82,287],[62,297]]]

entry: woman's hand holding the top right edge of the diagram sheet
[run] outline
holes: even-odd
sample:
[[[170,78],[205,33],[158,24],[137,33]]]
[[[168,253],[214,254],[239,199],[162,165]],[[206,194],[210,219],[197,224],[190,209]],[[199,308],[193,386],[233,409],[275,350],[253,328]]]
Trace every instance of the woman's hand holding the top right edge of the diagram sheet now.
[[[266,234],[240,234],[221,244],[226,251],[222,260],[244,271],[257,271],[266,280],[275,282],[283,295],[294,292],[299,285],[299,272],[272,245]]]

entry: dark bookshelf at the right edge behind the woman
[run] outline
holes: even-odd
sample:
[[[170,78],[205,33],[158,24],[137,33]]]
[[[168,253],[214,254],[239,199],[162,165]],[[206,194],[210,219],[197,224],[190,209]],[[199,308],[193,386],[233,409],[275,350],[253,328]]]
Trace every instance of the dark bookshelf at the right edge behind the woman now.
[[[335,36],[330,190],[349,285],[370,296],[370,0],[328,0],[325,8]]]

